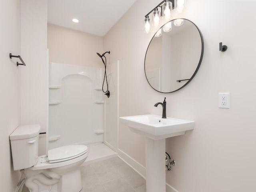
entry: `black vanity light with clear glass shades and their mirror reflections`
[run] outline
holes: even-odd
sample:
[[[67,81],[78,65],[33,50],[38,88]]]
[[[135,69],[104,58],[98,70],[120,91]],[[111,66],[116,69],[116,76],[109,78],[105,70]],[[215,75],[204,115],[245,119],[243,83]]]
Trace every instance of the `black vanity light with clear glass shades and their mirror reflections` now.
[[[144,32],[148,34],[151,26],[158,28],[162,20],[165,20],[166,22],[170,21],[173,10],[181,13],[185,9],[185,5],[186,0],[163,0],[154,9],[148,12],[148,14],[146,14],[144,19]],[[150,14],[152,14],[152,22],[150,22]],[[183,20],[177,20],[176,23],[176,26],[180,26],[183,24]],[[166,32],[170,31],[172,27],[170,26],[170,28],[168,28],[168,26],[169,24],[166,26]]]

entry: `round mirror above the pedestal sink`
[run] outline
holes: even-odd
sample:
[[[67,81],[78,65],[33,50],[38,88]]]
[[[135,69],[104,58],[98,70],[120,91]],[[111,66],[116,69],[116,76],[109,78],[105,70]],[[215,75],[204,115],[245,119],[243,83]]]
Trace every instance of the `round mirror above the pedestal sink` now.
[[[204,41],[190,20],[175,19],[154,34],[145,56],[150,86],[162,93],[178,91],[196,75],[202,62]]]

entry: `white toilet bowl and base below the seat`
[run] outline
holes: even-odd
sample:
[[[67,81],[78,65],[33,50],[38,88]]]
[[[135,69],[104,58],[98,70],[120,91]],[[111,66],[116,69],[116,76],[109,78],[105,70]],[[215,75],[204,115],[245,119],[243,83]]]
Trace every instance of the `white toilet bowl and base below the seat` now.
[[[52,164],[39,161],[35,166],[25,169],[25,185],[30,192],[80,192],[80,165],[87,156],[88,153],[85,153],[77,158]]]

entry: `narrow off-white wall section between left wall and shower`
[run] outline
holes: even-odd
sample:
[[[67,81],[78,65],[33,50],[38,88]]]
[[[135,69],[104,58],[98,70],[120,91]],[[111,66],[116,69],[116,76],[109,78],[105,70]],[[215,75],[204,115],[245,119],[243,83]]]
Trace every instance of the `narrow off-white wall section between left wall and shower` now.
[[[46,131],[48,114],[47,0],[22,0],[21,124],[40,124]],[[40,135],[39,155],[45,154],[45,135]]]

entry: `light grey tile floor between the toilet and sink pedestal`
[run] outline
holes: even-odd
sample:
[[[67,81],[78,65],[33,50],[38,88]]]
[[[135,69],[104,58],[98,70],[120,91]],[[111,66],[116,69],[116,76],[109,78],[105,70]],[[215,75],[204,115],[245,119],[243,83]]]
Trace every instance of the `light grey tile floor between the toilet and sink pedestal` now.
[[[81,166],[81,192],[146,192],[146,182],[120,158]]]

